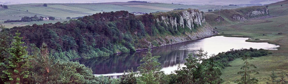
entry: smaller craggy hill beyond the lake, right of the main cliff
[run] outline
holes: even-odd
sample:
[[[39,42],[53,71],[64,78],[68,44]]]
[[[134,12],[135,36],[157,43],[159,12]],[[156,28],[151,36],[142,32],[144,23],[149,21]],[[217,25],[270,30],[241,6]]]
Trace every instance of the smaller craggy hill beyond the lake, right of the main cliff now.
[[[223,9],[205,13],[206,21],[213,26],[230,25],[235,22],[244,22],[255,17],[268,16],[266,6],[251,6],[238,9]]]

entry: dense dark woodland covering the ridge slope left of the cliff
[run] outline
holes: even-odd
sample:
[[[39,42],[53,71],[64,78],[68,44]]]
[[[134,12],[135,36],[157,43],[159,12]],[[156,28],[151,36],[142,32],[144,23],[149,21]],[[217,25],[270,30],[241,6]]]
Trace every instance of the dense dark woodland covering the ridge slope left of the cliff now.
[[[165,15],[179,17],[173,12]],[[71,60],[136,52],[135,48],[147,48],[147,40],[151,41],[152,36],[183,35],[183,32],[192,32],[186,25],[185,28],[177,26],[177,30],[176,26],[166,25],[164,21],[155,21],[158,17],[153,14],[135,16],[128,11],[103,12],[63,23],[33,24],[4,29],[0,33],[8,32],[9,36],[19,30],[28,49],[31,49],[30,44],[40,48],[42,43],[46,42],[50,54],[56,59]],[[11,39],[12,36],[9,37]],[[162,41],[169,42],[170,39]],[[157,41],[152,44],[160,45]]]

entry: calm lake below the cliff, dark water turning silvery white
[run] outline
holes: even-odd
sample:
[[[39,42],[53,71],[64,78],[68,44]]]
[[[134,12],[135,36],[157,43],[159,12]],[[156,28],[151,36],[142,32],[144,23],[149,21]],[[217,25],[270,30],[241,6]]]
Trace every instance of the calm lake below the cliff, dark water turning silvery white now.
[[[162,64],[162,71],[168,74],[171,73],[171,71],[176,70],[179,64],[181,67],[185,66],[184,63],[186,62],[185,58],[187,58],[187,55],[190,53],[196,54],[200,48],[208,52],[208,55],[211,55],[218,54],[219,52],[226,52],[232,48],[241,49],[251,47],[277,50],[276,48],[279,47],[278,45],[268,43],[245,42],[247,39],[248,38],[213,36],[201,40],[154,48],[152,50],[152,55],[161,56],[159,62]],[[93,74],[96,76],[104,75],[118,77],[127,69],[133,68],[134,72],[137,71],[137,67],[141,63],[140,60],[145,54],[146,51],[142,51],[88,60],[82,59],[79,60],[79,62],[90,67],[93,70]]]

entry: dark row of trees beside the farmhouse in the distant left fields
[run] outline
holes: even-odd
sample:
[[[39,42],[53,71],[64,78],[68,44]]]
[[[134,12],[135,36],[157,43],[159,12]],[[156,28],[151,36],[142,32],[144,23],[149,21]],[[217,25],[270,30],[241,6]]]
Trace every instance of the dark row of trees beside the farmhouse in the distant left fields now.
[[[31,22],[31,21],[43,21],[44,17],[37,17],[37,15],[35,15],[34,17],[22,17],[20,20],[7,20],[4,21],[6,22]],[[55,20],[55,17],[48,17],[50,20]]]

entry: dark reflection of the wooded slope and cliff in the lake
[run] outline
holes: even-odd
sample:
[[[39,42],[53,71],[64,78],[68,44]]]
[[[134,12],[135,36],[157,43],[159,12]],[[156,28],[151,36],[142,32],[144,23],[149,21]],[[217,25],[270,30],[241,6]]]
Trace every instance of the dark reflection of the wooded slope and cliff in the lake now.
[[[185,58],[187,58],[187,54],[191,53],[191,51],[171,50],[170,47],[173,46],[165,46],[161,47],[161,49],[156,48],[152,51],[153,56],[161,56],[159,62],[162,64],[162,67],[185,63]],[[137,67],[141,63],[140,60],[146,52],[147,51],[142,51],[109,57],[82,59],[79,60],[79,62],[90,67],[93,74],[123,73],[123,71],[131,68],[133,68],[133,71],[137,71]]]

